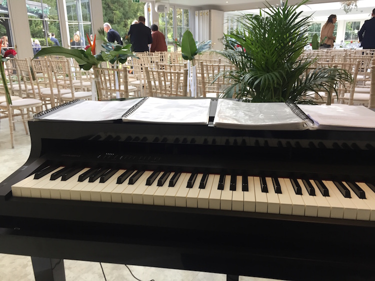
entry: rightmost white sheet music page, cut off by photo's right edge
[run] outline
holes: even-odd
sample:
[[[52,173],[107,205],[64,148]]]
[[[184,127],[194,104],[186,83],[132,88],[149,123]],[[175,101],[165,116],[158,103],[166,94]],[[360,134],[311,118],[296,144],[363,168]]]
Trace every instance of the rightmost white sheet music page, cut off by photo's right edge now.
[[[300,104],[320,130],[375,130],[375,112],[362,105],[310,105]]]

